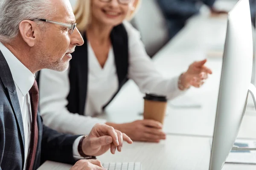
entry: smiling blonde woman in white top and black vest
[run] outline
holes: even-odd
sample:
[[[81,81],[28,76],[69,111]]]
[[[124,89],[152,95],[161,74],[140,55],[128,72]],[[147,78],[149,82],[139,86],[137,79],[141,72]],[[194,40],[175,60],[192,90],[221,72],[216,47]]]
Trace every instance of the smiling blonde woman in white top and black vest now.
[[[190,86],[200,87],[211,74],[204,66],[206,60],[194,62],[177,77],[164,79],[146,54],[140,33],[126,21],[137,10],[139,0],[77,3],[74,13],[84,45],[76,47],[66,72],[41,71],[40,109],[44,123],[60,132],[75,134],[89,133],[93,125],[102,123],[135,141],[165,139],[162,125],[153,120],[116,124],[93,116],[102,113],[127,79],[133,79],[142,92],[166,95],[168,99]]]

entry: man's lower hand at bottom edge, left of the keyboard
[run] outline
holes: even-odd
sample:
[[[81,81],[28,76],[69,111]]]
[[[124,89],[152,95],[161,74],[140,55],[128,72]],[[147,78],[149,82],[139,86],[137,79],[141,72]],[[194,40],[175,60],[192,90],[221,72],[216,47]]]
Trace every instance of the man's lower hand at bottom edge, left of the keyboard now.
[[[106,170],[99,160],[81,159],[70,170]]]

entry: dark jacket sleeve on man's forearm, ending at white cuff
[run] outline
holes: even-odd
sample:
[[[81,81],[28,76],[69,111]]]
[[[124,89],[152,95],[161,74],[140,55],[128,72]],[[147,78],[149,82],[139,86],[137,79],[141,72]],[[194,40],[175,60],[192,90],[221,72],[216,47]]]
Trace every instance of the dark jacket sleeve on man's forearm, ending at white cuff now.
[[[41,143],[42,160],[75,164],[73,143],[78,136],[58,133],[44,125]]]

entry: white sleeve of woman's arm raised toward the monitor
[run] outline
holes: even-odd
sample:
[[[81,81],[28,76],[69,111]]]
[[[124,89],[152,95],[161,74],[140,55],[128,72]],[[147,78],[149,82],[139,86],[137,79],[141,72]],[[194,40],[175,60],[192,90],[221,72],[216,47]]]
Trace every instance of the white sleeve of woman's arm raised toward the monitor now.
[[[129,45],[129,68],[128,77],[133,79],[140,88],[140,91],[166,95],[173,99],[184,91],[178,88],[178,78],[164,78],[155,68],[154,63],[148,57],[143,42],[140,40],[140,33],[129,23],[124,23],[128,32]]]

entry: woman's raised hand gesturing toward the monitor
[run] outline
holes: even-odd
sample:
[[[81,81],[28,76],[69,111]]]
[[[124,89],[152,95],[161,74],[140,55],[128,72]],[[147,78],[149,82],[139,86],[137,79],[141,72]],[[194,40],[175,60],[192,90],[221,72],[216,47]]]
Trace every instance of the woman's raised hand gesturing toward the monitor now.
[[[207,60],[204,59],[193,62],[189,66],[186,73],[181,77],[183,87],[188,88],[189,86],[194,86],[200,88],[204,84],[204,81],[208,78],[208,74],[212,74],[212,71],[204,65],[206,62]]]

